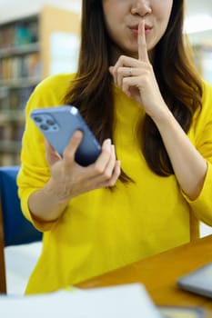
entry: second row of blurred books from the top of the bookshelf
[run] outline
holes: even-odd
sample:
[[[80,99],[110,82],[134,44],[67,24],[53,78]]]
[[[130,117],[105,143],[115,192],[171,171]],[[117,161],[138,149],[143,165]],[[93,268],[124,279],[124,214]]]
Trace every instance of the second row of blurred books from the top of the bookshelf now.
[[[41,76],[42,63],[38,53],[4,57],[0,60],[0,80]]]

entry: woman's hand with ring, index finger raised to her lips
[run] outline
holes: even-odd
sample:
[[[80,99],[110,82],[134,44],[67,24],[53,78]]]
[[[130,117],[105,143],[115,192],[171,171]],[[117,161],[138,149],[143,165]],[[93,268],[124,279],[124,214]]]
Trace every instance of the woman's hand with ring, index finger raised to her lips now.
[[[145,21],[141,20],[137,32],[138,58],[121,55],[116,65],[110,66],[115,84],[130,97],[136,99],[152,118],[160,114],[167,105],[160,93],[146,47]]]

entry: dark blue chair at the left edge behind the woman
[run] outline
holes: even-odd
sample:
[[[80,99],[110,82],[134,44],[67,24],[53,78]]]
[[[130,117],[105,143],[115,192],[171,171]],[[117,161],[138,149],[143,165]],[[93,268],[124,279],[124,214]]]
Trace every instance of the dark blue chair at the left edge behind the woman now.
[[[41,241],[37,231],[24,217],[17,196],[19,166],[0,167],[0,293],[6,293],[5,246]]]

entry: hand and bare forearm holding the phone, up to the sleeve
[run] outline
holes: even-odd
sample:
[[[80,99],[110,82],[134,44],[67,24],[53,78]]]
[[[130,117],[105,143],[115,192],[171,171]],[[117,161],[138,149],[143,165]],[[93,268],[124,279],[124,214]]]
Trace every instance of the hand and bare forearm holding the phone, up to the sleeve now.
[[[120,175],[114,144],[106,139],[96,162],[87,167],[75,161],[76,149],[83,134],[76,131],[66,146],[63,157],[45,142],[46,160],[51,176],[45,186],[29,196],[28,206],[36,222],[55,222],[70,199],[88,191],[113,186]]]

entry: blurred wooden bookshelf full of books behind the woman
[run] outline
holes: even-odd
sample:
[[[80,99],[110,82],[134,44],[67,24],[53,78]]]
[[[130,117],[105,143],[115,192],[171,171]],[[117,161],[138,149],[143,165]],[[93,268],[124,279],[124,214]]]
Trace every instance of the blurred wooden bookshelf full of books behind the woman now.
[[[25,104],[35,85],[48,75],[75,70],[79,28],[79,15],[54,6],[0,23],[1,166],[20,164]]]

